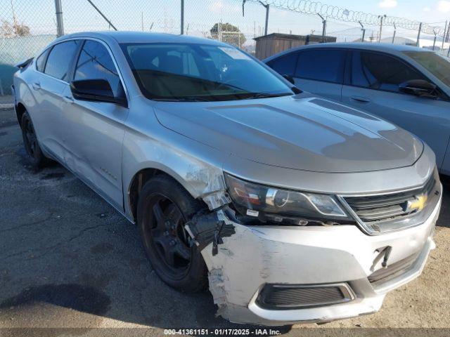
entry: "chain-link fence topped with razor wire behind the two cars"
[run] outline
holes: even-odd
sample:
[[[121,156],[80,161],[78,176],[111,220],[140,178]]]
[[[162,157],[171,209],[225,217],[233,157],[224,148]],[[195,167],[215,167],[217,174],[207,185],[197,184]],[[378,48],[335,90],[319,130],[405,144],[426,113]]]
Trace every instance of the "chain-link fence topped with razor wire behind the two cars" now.
[[[57,1],[63,13],[60,29],[65,34],[113,29],[169,34],[182,31],[218,39],[249,53],[255,53],[254,39],[265,34],[321,35],[323,20],[326,20],[326,35],[338,42],[361,42],[364,33],[364,42],[416,45],[418,34],[404,25],[406,19],[397,18],[400,27],[394,29],[395,18],[389,18],[380,36],[378,25],[365,23],[367,27],[364,27],[339,20],[334,12],[323,17],[319,12],[306,11],[306,7],[289,8],[284,0],[0,0],[0,96],[10,93],[12,74],[16,70],[13,65],[37,55],[56,39]],[[311,1],[305,4],[308,2]],[[183,18],[181,4],[184,4]],[[446,55],[449,44],[442,44],[446,35],[444,25],[442,22],[436,26],[436,41],[432,34],[425,34],[429,33],[430,26],[426,25],[425,29],[424,25],[420,46],[432,48],[434,44],[435,50]]]

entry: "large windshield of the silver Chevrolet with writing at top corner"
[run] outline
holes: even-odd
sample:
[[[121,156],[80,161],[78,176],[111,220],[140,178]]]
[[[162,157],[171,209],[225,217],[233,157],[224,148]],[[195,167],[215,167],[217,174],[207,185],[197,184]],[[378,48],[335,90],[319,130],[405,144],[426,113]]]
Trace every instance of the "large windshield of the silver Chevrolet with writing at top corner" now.
[[[152,100],[240,100],[293,95],[281,79],[231,46],[122,44],[143,95]]]

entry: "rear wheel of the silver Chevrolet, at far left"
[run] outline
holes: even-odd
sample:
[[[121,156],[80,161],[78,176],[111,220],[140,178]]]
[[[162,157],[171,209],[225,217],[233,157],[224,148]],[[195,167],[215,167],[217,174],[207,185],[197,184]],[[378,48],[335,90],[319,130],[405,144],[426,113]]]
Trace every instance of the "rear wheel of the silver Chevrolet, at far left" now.
[[[37,141],[36,132],[28,112],[24,112],[21,122],[23,145],[35,169],[41,169],[51,163],[51,160],[44,156]]]

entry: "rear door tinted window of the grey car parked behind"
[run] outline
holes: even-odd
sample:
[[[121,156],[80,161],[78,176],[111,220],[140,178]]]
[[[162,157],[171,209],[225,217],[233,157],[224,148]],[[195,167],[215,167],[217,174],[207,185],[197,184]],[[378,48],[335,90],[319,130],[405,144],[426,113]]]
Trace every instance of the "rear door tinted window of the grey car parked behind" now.
[[[345,51],[316,49],[298,55],[295,77],[332,83],[342,83]]]

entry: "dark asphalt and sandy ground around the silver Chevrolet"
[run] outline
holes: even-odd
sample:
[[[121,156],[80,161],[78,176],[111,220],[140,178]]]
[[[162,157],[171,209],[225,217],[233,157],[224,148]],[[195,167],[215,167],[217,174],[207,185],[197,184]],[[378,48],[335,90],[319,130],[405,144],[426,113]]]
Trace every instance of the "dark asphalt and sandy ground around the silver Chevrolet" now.
[[[383,333],[364,329],[450,327],[447,185],[435,232],[437,249],[423,275],[389,293],[374,315],[284,327],[280,332],[448,336],[446,329]],[[83,328],[70,334],[95,331],[105,336],[162,335],[164,329],[177,328],[243,328],[214,316],[210,293],[186,295],[163,284],[144,256],[136,227],[71,173],[59,165],[34,171],[12,110],[0,110],[0,204],[0,336],[21,331],[5,328]],[[128,329],[94,330],[133,327],[146,329],[134,329],[131,335]]]

